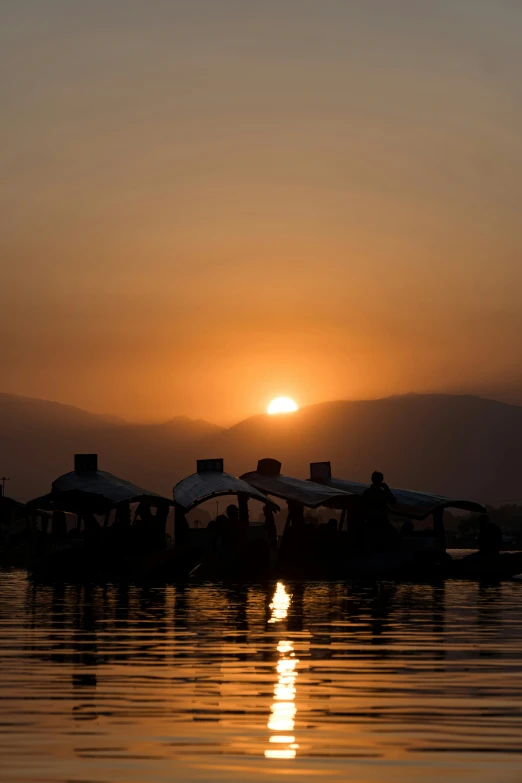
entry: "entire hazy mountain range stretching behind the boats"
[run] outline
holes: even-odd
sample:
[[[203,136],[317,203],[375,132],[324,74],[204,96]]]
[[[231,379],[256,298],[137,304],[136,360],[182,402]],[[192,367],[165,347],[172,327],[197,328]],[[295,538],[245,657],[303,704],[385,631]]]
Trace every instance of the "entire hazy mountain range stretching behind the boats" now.
[[[0,394],[0,473],[6,493],[26,500],[93,451],[99,466],[171,495],[198,457],[224,457],[240,474],[276,457],[307,477],[331,460],[337,476],[499,503],[522,496],[522,407],[459,395],[405,395],[325,402],[294,414],[254,416],[230,428],[176,417],[134,424],[68,405]]]

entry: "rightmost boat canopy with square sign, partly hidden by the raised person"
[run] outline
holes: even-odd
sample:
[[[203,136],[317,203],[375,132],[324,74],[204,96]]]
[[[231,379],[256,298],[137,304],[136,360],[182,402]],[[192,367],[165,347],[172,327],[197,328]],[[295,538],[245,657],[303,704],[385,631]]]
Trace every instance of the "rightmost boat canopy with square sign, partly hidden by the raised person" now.
[[[357,481],[333,478],[329,462],[312,462],[310,464],[310,481],[324,483],[325,486],[332,487],[333,489],[342,489],[346,492],[351,492],[354,495],[362,495],[362,493],[370,487],[370,484],[361,484]],[[390,511],[401,516],[408,516],[421,520],[431,516],[431,514],[436,511],[445,508],[473,511],[478,514],[484,514],[486,512],[484,506],[472,500],[459,500],[443,495],[433,495],[428,492],[416,492],[411,489],[395,489],[393,487],[390,487],[390,489],[397,499],[395,505],[390,505]]]

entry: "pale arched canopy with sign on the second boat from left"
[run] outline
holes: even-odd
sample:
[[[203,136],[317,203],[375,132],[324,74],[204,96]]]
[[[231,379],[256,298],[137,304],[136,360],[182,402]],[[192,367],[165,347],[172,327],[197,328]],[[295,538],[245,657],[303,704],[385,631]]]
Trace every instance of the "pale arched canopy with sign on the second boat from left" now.
[[[237,476],[223,471],[223,460],[198,460],[197,472],[178,482],[173,489],[174,500],[183,506],[185,512],[191,511],[206,500],[223,495],[246,495],[259,500],[279,511],[273,501],[258,489]]]

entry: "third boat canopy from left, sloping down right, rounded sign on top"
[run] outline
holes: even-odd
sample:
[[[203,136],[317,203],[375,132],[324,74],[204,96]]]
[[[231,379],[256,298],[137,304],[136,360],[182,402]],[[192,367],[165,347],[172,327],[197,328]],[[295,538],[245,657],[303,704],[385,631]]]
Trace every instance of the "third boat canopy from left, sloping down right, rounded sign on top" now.
[[[307,508],[345,508],[353,498],[349,492],[342,489],[284,476],[281,473],[281,463],[275,459],[259,460],[257,470],[244,473],[241,478],[267,495],[300,503]]]

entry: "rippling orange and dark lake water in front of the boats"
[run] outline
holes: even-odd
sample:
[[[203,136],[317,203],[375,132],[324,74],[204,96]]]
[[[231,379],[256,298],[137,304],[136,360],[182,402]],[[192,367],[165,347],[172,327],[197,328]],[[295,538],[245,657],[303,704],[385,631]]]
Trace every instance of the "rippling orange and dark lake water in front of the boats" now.
[[[0,573],[0,780],[522,781],[522,584]]]

